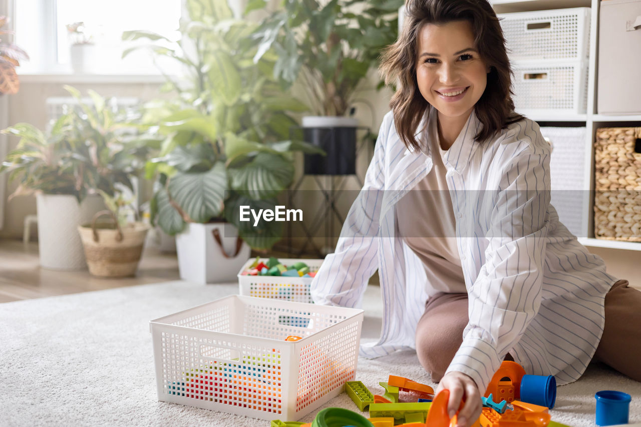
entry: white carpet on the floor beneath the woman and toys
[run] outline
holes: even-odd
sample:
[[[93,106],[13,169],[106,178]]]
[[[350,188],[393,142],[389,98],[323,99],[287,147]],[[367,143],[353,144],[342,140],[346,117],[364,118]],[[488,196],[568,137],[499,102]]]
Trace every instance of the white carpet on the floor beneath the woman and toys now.
[[[237,290],[174,281],[0,304],[0,426],[269,426],[156,396],[149,321]],[[378,291],[367,290],[363,339],[378,337]],[[413,351],[361,358],[356,380],[382,394],[388,374],[433,385]],[[594,426],[594,393],[604,389],[631,394],[630,423],[641,421],[641,383],[603,365],[558,388],[553,420]],[[357,410],[346,394],[326,406]]]

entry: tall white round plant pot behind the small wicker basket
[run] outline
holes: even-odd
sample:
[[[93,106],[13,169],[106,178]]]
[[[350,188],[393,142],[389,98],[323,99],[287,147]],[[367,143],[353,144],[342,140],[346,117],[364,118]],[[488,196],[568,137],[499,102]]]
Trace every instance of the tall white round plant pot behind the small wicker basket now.
[[[94,213],[104,209],[100,196],[85,197],[78,205],[67,194],[38,194],[38,250],[40,266],[51,270],[87,268],[78,226],[91,222]]]

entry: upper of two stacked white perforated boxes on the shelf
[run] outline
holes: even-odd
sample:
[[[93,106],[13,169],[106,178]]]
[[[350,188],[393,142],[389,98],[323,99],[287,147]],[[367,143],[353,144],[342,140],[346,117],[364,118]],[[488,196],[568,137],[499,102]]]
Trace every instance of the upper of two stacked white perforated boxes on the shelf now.
[[[498,17],[510,60],[588,58],[590,8],[502,13]]]

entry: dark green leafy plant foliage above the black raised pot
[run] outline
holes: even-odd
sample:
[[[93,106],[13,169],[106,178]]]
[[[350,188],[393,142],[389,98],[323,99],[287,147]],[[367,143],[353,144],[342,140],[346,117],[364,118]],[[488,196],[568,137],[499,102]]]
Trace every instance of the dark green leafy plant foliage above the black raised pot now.
[[[383,47],[398,34],[404,0],[282,0],[254,37],[254,60],[274,50],[283,85],[299,80],[313,113],[345,115]],[[253,0],[249,8],[265,8]]]

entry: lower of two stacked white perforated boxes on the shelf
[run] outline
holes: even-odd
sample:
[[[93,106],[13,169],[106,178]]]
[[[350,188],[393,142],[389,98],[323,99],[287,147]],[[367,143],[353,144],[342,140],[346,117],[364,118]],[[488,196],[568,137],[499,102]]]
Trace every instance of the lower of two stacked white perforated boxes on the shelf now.
[[[587,61],[512,63],[514,105],[524,115],[576,115],[587,110]]]

